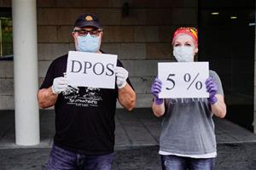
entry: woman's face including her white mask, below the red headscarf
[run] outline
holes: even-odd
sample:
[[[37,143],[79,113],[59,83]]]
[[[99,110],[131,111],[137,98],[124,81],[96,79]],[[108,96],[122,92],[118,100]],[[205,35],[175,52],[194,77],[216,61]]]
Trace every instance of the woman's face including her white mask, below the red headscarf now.
[[[188,35],[178,36],[173,44],[173,55],[177,62],[193,62],[196,52],[195,43]]]

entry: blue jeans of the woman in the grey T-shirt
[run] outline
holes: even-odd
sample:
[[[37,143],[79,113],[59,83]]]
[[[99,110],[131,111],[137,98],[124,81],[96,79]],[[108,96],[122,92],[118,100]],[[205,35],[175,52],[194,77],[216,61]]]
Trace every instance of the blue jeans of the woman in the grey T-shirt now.
[[[215,158],[161,156],[163,170],[213,170]]]

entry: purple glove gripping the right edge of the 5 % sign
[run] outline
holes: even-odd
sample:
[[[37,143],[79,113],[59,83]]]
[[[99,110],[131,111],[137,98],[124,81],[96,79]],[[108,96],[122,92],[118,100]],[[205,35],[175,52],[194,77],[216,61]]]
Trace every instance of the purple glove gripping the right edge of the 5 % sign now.
[[[207,92],[209,93],[208,101],[211,105],[213,105],[218,101],[218,99],[215,96],[215,94],[217,94],[217,91],[218,91],[218,86],[213,81],[212,77],[207,78],[206,86],[207,86]]]

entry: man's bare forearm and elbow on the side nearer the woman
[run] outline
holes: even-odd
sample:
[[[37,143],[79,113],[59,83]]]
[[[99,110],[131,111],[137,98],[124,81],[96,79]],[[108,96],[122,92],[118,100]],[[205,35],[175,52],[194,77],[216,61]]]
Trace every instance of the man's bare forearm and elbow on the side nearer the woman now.
[[[136,94],[128,83],[124,88],[119,88],[119,103],[128,111],[135,107]]]

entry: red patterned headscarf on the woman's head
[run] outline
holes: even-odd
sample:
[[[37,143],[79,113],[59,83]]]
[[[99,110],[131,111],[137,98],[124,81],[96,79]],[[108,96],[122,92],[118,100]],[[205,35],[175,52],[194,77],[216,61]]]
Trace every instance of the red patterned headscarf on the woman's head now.
[[[193,40],[195,41],[195,46],[197,47],[198,45],[198,31],[196,28],[194,27],[180,27],[177,28],[177,30],[174,32],[173,37],[172,37],[172,44],[174,43],[174,41],[176,40],[176,38],[180,35],[180,34],[187,34],[190,37],[193,38]]]

